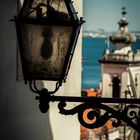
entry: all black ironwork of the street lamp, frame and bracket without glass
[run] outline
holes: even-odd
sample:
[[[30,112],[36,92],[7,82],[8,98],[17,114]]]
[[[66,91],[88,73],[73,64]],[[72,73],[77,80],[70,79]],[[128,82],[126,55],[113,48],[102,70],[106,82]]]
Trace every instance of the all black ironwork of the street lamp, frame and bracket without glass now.
[[[74,31],[73,34],[76,36],[72,36],[70,46],[71,51],[68,51],[65,64],[63,68],[63,75],[60,79],[56,79],[56,87],[53,91],[48,91],[48,89],[38,89],[36,85],[36,80],[46,80],[46,79],[30,79],[27,78],[25,75],[26,71],[24,70],[24,64],[23,64],[23,73],[25,82],[29,81],[29,87],[30,89],[37,94],[36,100],[39,100],[39,108],[42,113],[46,113],[49,109],[49,103],[50,102],[59,102],[58,108],[59,113],[64,115],[74,115],[78,114],[78,120],[86,128],[98,128],[102,127],[106,124],[106,122],[110,119],[112,119],[112,126],[118,127],[122,124],[122,121],[127,123],[129,126],[131,126],[133,129],[135,129],[138,133],[140,133],[140,99],[134,99],[133,97],[130,99],[126,98],[103,98],[103,97],[67,97],[67,96],[54,96],[54,94],[59,90],[60,86],[63,82],[65,82],[68,71],[70,69],[70,64],[72,61],[72,57],[74,54],[76,42],[78,39],[78,35],[80,33],[81,25],[83,24],[83,19],[78,19],[77,13],[73,12],[74,7],[72,5],[71,0],[64,0],[65,4],[68,8],[68,12],[71,17],[71,24],[74,25]],[[44,25],[44,22],[46,22],[46,19],[27,19],[21,18],[23,14],[23,10],[25,8],[25,5],[28,3],[28,0],[25,0],[25,3],[23,5],[23,8],[21,9],[21,12],[19,16],[15,16],[14,21],[16,23],[17,28],[17,36],[20,36],[19,31],[19,23],[34,23],[34,24],[42,24]],[[36,10],[36,9],[33,9]],[[28,13],[30,14],[30,13]],[[48,25],[67,25],[69,26],[68,22],[50,22],[47,21]],[[21,40],[18,38],[19,44],[21,45]],[[20,50],[23,51],[22,49]],[[22,59],[22,53],[21,53],[21,59]],[[52,80],[52,79],[50,79]],[[129,93],[129,89],[125,91],[125,93]],[[67,102],[80,102],[81,104],[78,104],[77,106],[73,107],[72,109],[65,109]],[[112,106],[109,105],[109,103],[112,104]],[[115,106],[115,108],[114,108]],[[94,120],[91,123],[86,122],[83,118],[83,114],[85,110],[91,109],[89,113],[87,114],[87,118],[89,120]]]

